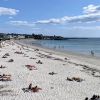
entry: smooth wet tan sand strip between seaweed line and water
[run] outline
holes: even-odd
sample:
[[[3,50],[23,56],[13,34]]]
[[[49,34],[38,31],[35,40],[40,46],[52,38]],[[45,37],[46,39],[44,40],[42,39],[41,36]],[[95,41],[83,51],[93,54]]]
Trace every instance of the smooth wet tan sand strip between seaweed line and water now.
[[[24,41],[38,41],[38,40],[24,39]],[[31,45],[27,42],[26,43],[23,42],[23,40],[16,40],[15,42],[19,45],[23,45],[23,46],[26,46],[26,47],[29,47],[29,48],[40,49],[41,51],[44,51],[44,52],[47,52],[47,53],[53,53],[55,55],[59,55],[59,56],[62,56],[62,57],[66,57],[66,58],[68,57],[68,58],[71,58],[71,59],[73,58],[73,59],[79,60],[81,62],[86,62],[86,63],[89,63],[89,64],[100,66],[100,61],[99,61],[100,57],[97,57],[97,56],[91,56],[91,55],[89,56],[89,55],[70,52],[70,51],[62,52],[62,51],[58,51],[58,50],[55,50],[55,49],[45,48],[45,47],[42,47],[42,46],[39,46],[39,45]]]

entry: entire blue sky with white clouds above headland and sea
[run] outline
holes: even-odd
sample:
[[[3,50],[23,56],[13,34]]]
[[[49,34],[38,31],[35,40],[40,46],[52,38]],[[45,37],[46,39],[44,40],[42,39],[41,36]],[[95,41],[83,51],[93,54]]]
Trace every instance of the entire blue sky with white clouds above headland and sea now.
[[[100,37],[100,0],[0,0],[0,32]]]

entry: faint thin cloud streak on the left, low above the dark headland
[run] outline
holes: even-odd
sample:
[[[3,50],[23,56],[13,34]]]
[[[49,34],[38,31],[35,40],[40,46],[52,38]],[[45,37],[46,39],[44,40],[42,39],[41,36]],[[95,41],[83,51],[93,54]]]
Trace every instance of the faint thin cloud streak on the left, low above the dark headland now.
[[[28,26],[28,27],[33,27],[35,25],[34,23],[29,23],[27,21],[9,21],[8,23],[15,26]]]

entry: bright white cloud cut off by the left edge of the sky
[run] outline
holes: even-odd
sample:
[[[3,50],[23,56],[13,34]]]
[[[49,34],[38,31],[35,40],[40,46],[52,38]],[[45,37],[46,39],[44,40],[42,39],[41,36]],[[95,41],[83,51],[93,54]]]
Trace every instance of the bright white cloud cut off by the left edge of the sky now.
[[[1,15],[17,15],[18,12],[19,10],[16,10],[16,9],[0,7],[0,16]]]

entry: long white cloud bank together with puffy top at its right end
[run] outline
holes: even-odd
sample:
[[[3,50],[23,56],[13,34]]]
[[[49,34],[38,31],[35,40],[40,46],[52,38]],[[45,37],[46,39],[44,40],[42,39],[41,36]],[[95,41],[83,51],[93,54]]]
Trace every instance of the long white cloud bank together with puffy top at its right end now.
[[[64,16],[62,18],[51,18],[39,20],[36,24],[66,24],[66,23],[90,23],[100,21],[100,6],[88,5],[83,7],[85,14],[78,16]]]

